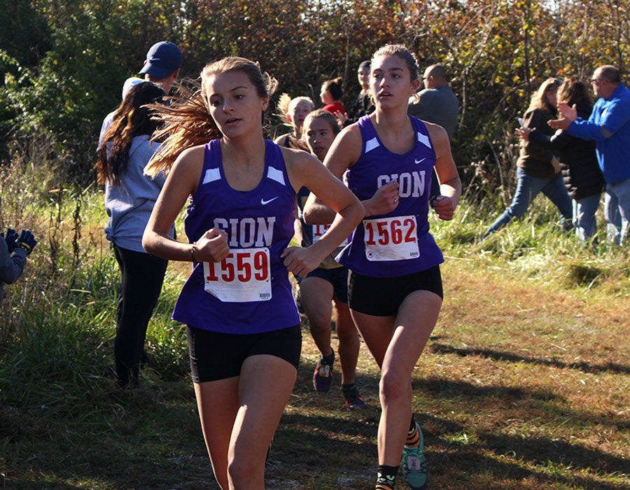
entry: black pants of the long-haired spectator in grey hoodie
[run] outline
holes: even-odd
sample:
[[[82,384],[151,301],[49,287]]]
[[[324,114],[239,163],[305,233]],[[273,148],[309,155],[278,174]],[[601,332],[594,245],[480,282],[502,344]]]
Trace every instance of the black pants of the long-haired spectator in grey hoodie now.
[[[168,260],[114,244],[120,267],[114,359],[118,381],[137,383],[148,321],[160,297]]]

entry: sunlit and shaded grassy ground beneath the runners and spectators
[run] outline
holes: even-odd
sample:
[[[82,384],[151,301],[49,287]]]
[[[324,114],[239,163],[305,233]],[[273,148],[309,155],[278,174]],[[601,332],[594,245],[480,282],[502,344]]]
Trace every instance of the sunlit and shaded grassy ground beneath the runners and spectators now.
[[[31,228],[40,244],[0,309],[0,488],[218,489],[186,339],[169,320],[186,266],[169,265],[141,388],[120,389],[118,268],[102,236],[102,197],[8,182],[0,179],[0,225]],[[479,243],[502,210],[464,203],[434,228],[446,299],[413,381],[428,488],[628,489],[628,253],[580,246],[542,200]],[[344,411],[338,373],[330,393],[313,391],[318,353],[305,320],[302,328],[267,488],[372,489],[377,367],[362,344],[358,384],[368,407]]]

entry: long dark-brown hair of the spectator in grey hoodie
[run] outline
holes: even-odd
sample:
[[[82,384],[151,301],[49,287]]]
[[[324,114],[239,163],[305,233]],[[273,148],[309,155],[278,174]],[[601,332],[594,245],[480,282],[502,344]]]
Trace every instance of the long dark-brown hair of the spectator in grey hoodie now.
[[[152,82],[138,83],[127,92],[114,113],[98,151],[94,168],[100,184],[109,181],[113,186],[118,186],[120,174],[125,171],[129,162],[133,139],[142,134],[151,136],[158,128],[158,121],[151,119],[153,106],[148,104],[155,104],[162,97],[165,97],[164,90]]]

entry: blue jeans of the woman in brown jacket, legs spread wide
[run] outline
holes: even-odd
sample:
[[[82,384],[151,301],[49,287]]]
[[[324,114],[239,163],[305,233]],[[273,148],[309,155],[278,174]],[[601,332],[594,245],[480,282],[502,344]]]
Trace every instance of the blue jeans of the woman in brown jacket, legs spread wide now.
[[[519,181],[517,183],[516,193],[514,193],[514,198],[512,199],[512,204],[492,223],[491,227],[484,233],[484,238],[507,225],[507,223],[510,223],[512,219],[521,218],[538,193],[543,193],[556,205],[556,208],[558,208],[562,215],[562,223],[571,222],[573,216],[571,198],[566,192],[561,176],[554,177],[553,179],[538,179],[538,177],[527,175],[525,171],[519,167],[517,169],[517,178]]]

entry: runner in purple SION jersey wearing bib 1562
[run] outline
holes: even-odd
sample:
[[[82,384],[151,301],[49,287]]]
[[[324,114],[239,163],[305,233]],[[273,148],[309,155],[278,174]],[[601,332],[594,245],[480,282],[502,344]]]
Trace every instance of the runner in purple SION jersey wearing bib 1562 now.
[[[412,489],[426,486],[411,379],[442,306],[442,254],[427,221],[431,167],[440,180],[441,195],[433,203],[440,218],[453,217],[461,195],[446,131],[407,116],[407,101],[419,84],[416,59],[407,48],[379,48],[370,75],[376,111],[346,127],[324,162],[339,179],[346,174],[365,207],[365,219],[339,260],[351,269],[352,317],[381,367],[378,490],[393,489],[401,464]],[[307,223],[332,216],[309,197]]]

